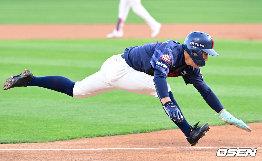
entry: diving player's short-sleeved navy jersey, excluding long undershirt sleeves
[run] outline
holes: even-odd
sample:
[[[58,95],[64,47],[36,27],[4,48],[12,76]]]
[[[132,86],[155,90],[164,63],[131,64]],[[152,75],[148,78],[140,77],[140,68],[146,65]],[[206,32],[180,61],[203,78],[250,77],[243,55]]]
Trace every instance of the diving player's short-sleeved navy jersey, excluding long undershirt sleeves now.
[[[152,76],[158,70],[165,78],[182,76],[186,84],[205,84],[200,69],[186,65],[182,44],[174,40],[127,48],[124,58],[133,69]]]

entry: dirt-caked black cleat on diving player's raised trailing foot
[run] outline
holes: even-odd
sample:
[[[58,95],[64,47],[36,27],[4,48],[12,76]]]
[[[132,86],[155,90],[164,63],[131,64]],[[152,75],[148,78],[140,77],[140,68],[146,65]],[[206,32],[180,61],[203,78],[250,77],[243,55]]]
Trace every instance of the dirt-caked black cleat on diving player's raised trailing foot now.
[[[27,83],[34,79],[30,70],[24,70],[19,75],[12,75],[3,85],[3,90],[8,90],[13,87],[26,87]]]

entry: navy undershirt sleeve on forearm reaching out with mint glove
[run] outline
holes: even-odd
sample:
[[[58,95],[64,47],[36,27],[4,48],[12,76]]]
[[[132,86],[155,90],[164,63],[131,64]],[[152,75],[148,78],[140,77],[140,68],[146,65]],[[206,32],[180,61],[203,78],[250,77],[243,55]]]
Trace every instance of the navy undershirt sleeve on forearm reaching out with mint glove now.
[[[206,103],[215,110],[217,113],[221,111],[224,107],[220,103],[219,99],[217,96],[214,94],[214,92],[206,85],[200,85],[200,86],[195,86],[196,90],[201,94],[201,96],[204,98]]]

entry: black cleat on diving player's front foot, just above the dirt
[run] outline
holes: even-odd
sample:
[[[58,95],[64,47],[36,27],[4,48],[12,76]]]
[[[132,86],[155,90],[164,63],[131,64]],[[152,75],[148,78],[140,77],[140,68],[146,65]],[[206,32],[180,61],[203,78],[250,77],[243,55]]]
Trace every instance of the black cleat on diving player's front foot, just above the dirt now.
[[[201,127],[198,127],[199,121],[193,126],[190,127],[189,137],[187,137],[187,141],[191,144],[191,146],[195,146],[198,143],[198,140],[201,139],[206,132],[210,129],[210,124],[206,123]]]

